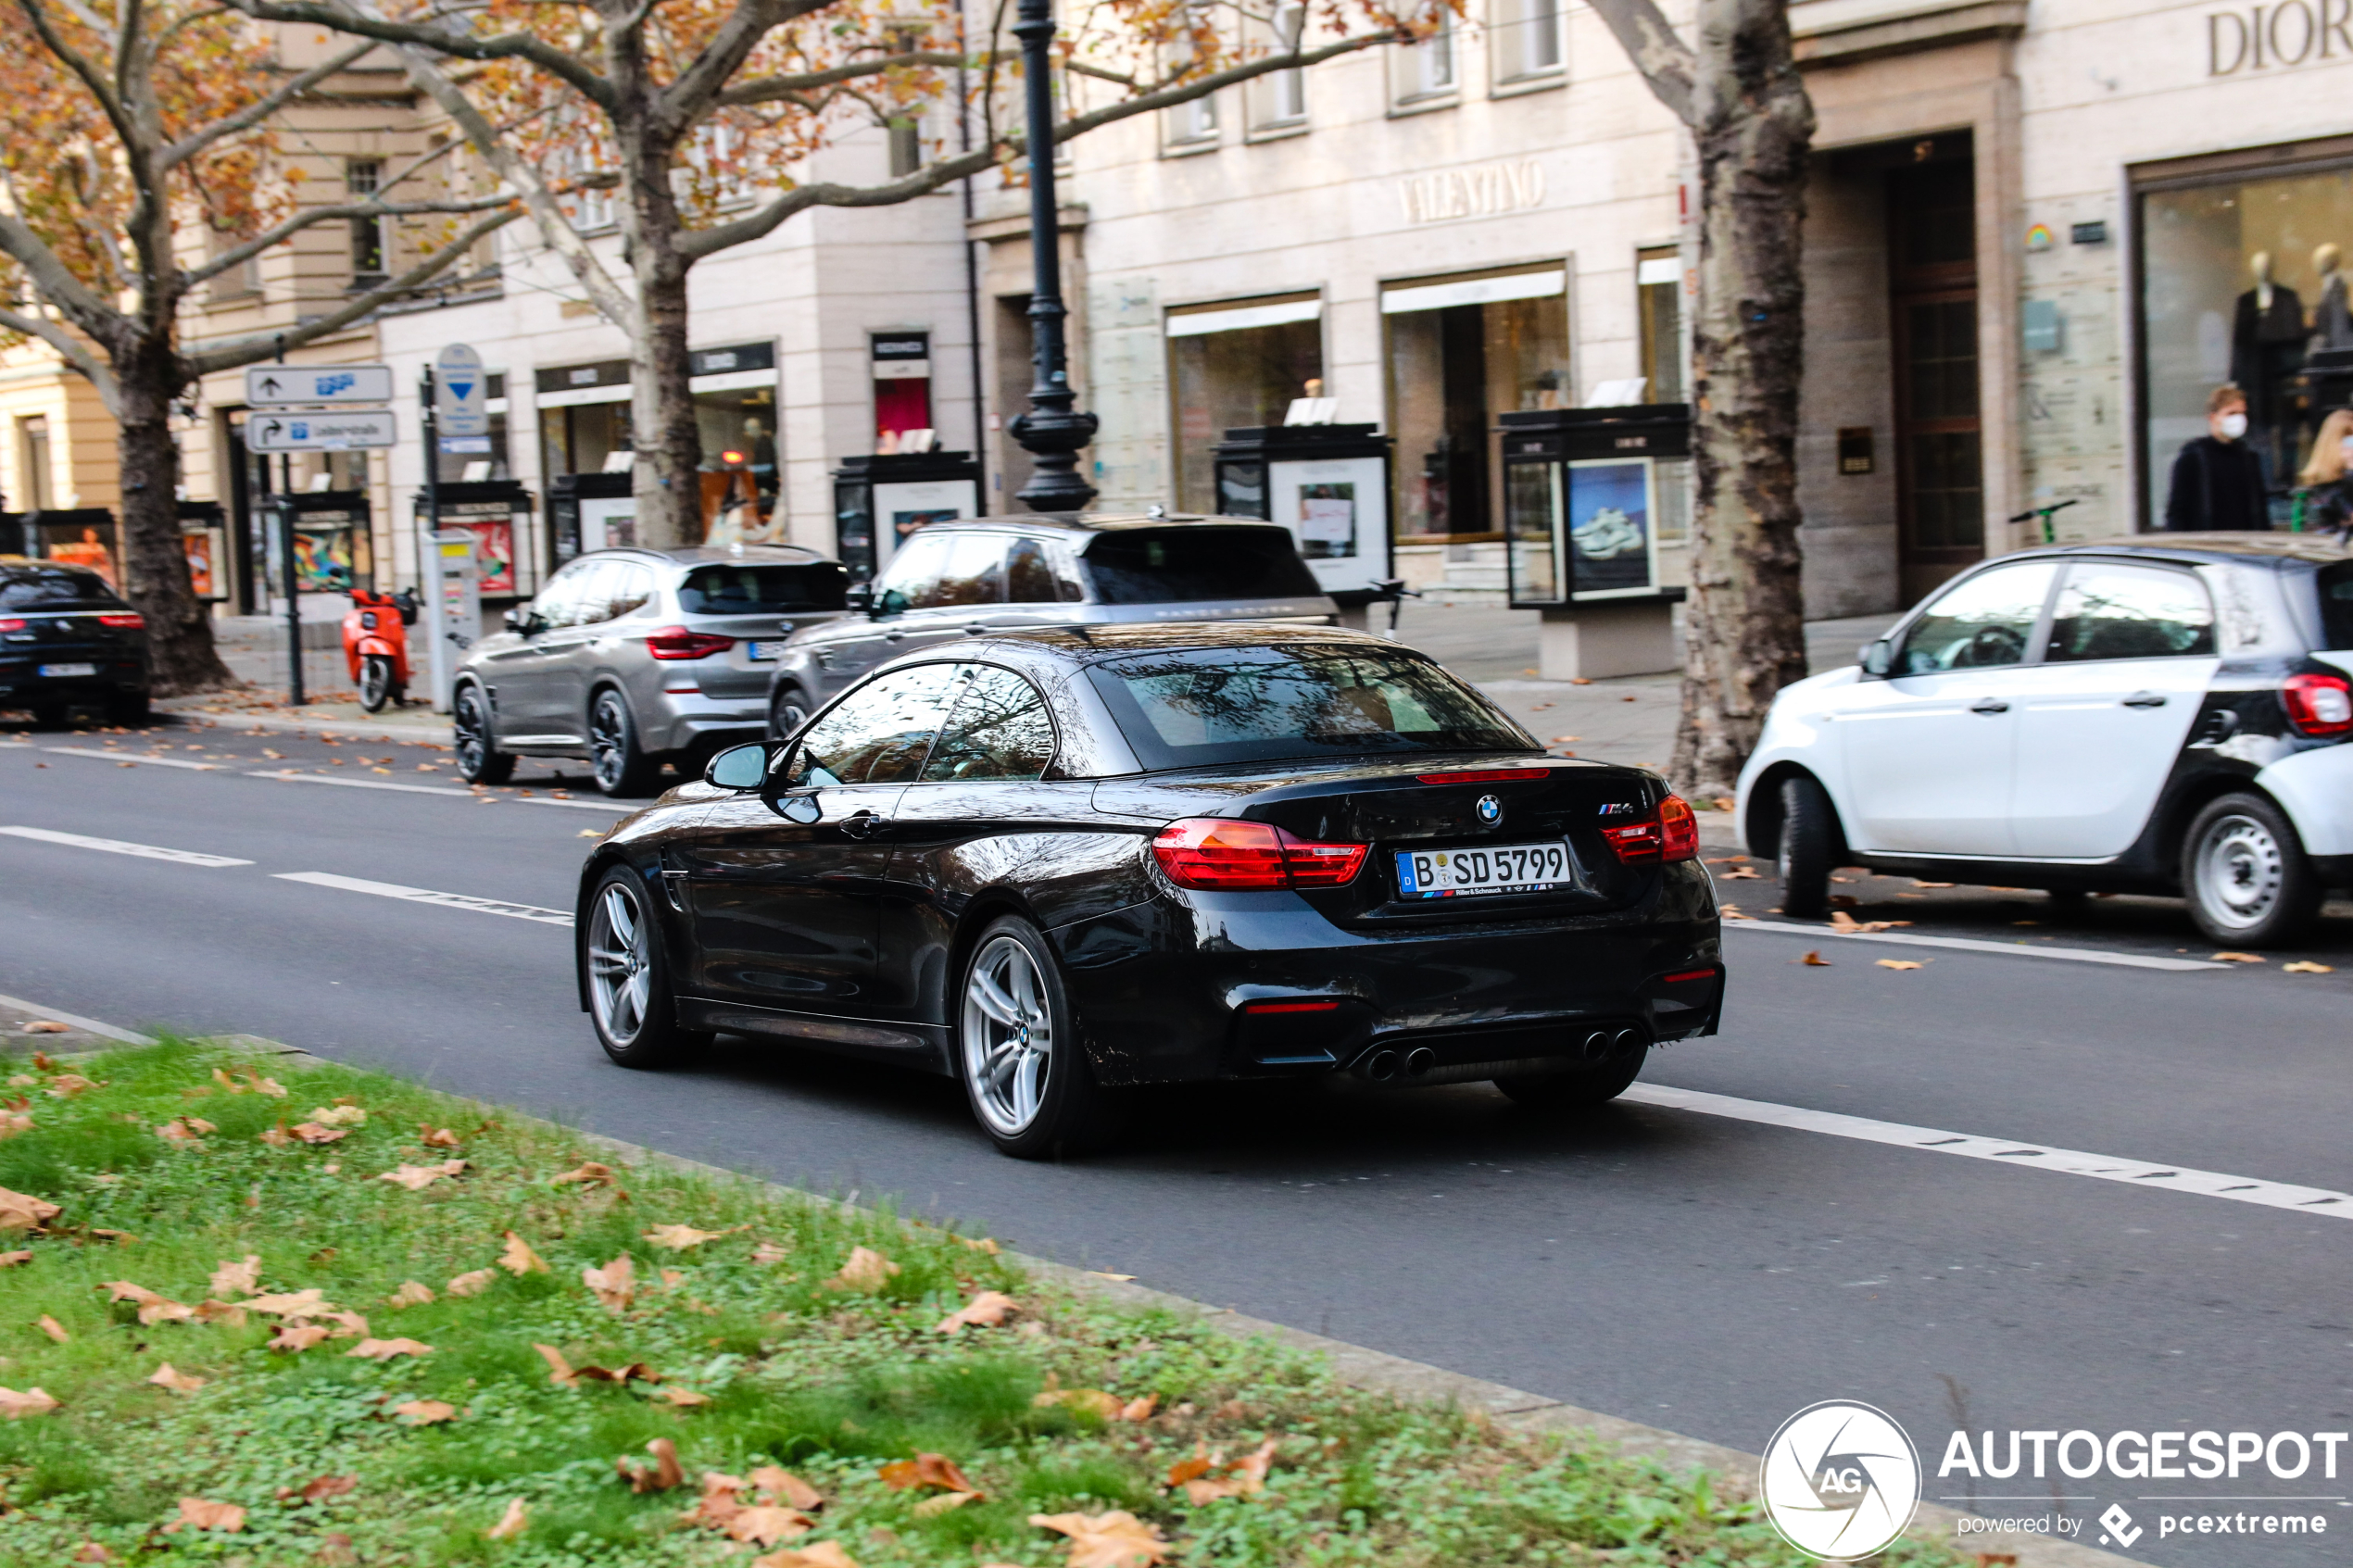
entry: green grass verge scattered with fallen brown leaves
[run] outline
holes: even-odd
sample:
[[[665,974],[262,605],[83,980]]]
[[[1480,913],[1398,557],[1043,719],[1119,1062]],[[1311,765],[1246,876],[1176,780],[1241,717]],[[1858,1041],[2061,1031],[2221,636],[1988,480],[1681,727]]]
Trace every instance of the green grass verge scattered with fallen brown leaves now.
[[[1805,1561],[1704,1479],[381,1074],[167,1041],[7,1095],[5,1563]]]

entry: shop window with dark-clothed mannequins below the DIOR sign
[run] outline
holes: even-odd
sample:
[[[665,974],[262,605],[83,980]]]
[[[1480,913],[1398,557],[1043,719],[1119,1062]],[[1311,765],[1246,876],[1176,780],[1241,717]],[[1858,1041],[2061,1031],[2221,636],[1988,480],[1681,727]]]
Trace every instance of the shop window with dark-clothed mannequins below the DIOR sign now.
[[[2271,179],[2181,176],[2141,190],[2141,376],[2148,524],[2165,515],[2174,458],[2207,435],[2207,395],[2247,395],[2247,442],[2273,517],[2329,409],[2353,404],[2353,167]]]

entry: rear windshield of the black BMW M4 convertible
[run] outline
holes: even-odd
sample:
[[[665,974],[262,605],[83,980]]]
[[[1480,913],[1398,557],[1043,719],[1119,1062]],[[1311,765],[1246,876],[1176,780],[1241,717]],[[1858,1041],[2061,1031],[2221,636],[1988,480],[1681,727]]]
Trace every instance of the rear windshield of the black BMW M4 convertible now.
[[[1087,670],[1148,769],[1282,757],[1544,750],[1426,658],[1355,649],[1188,649]]]

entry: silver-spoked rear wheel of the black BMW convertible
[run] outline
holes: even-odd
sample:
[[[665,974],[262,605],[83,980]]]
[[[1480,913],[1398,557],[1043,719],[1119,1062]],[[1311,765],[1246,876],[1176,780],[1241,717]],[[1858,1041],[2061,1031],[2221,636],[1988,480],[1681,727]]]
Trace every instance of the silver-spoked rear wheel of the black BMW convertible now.
[[[1038,926],[1002,917],[965,964],[958,1070],[972,1114],[1014,1159],[1101,1147],[1118,1103],[1096,1086],[1078,1020]]]

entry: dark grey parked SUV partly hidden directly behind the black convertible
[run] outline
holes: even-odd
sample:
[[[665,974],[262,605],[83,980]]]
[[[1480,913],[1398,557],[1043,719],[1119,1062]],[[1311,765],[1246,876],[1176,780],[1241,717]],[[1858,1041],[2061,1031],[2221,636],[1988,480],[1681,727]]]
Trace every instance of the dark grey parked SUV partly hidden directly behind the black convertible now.
[[[1249,517],[934,522],[908,534],[849,602],[859,614],[786,644],[769,682],[769,741],[875,665],[958,637],[1141,621],[1339,621],[1292,531]]]

